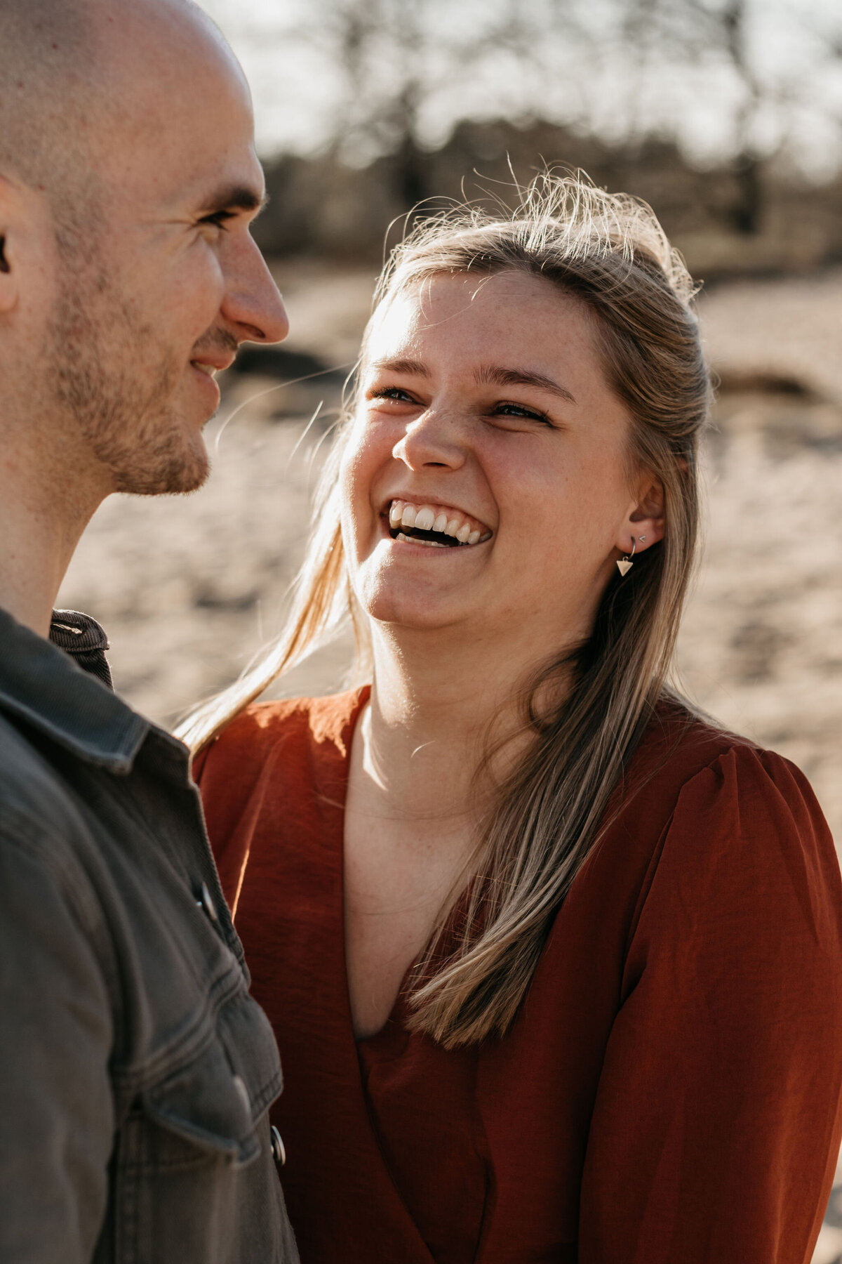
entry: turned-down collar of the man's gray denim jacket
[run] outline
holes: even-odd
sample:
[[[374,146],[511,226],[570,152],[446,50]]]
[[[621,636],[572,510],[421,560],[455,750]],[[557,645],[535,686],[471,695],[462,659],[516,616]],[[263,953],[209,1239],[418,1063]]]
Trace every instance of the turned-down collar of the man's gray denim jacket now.
[[[87,616],[67,618],[72,613],[62,611],[58,622],[66,628],[80,627],[86,650],[96,643],[104,648],[106,638],[98,623]],[[131,770],[151,727],[91,670],[82,670],[69,653],[3,609],[0,713],[16,717],[78,758],[111,772]]]

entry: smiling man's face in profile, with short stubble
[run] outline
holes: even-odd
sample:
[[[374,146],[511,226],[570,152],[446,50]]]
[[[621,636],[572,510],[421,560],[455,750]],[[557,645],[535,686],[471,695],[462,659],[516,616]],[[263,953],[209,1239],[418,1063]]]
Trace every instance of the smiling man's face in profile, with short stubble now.
[[[100,147],[96,250],[67,269],[49,331],[53,397],[112,490],[187,492],[208,469],[215,374],[241,341],[288,330],[250,234],[264,197],[251,99],[179,5],[140,5],[110,38],[122,95]]]

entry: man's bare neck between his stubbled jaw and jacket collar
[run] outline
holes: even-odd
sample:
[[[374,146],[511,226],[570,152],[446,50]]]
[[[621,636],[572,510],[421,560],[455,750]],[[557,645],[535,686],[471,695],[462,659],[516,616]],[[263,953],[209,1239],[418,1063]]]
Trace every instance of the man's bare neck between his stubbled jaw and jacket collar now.
[[[35,454],[0,451],[0,607],[48,636],[58,589],[100,498],[73,474],[53,485]]]

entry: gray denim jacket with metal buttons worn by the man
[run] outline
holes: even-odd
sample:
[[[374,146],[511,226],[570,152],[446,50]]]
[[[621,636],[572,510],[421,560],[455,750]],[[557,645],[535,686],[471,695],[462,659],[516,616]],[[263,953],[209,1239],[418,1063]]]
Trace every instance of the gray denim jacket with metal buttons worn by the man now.
[[[85,670],[0,611],[0,1260],[292,1264],[278,1052],[187,750],[97,624],[53,623]]]

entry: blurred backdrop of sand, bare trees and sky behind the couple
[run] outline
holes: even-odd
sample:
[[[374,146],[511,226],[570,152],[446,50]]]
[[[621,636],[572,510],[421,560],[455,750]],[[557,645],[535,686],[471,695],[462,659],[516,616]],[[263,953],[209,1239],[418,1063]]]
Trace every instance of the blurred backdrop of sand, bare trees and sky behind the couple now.
[[[250,348],[189,498],[111,498],[61,600],[170,723],[276,632],[382,260],[419,202],[582,167],[649,201],[702,283],[718,374],[688,693],[794,758],[842,841],[838,0],[205,0],[246,70],[283,348]],[[390,228],[391,225],[391,228]],[[340,642],[285,693],[342,685]],[[815,1264],[842,1259],[842,1189]]]

